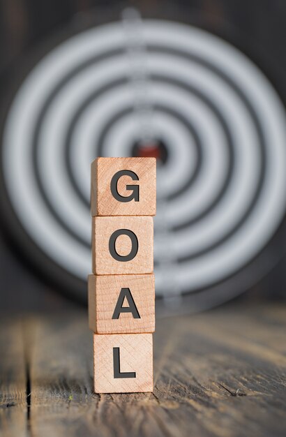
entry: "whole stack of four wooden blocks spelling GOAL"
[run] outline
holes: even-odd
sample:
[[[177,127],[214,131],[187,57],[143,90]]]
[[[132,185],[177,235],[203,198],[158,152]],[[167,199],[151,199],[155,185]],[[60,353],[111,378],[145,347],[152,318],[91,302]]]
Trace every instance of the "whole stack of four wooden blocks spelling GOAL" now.
[[[91,165],[96,393],[153,391],[155,158],[97,158]]]

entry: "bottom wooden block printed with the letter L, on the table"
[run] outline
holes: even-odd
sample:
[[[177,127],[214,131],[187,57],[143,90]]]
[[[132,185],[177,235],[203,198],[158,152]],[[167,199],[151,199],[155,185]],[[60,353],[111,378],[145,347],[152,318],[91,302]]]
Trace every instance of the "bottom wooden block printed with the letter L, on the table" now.
[[[152,334],[93,334],[94,391],[153,391]]]

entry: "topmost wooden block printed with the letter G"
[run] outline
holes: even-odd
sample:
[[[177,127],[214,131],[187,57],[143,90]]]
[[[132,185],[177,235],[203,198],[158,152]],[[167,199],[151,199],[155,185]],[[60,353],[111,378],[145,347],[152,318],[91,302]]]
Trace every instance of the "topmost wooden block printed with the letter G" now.
[[[91,164],[92,216],[154,216],[156,158],[96,158]]]

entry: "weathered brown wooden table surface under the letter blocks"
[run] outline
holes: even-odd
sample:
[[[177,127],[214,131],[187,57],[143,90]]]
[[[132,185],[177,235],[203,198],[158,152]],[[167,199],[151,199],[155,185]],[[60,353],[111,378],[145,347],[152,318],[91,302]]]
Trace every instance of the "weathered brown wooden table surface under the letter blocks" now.
[[[1,436],[286,436],[286,306],[158,320],[153,394],[93,394],[83,311],[0,323]]]

